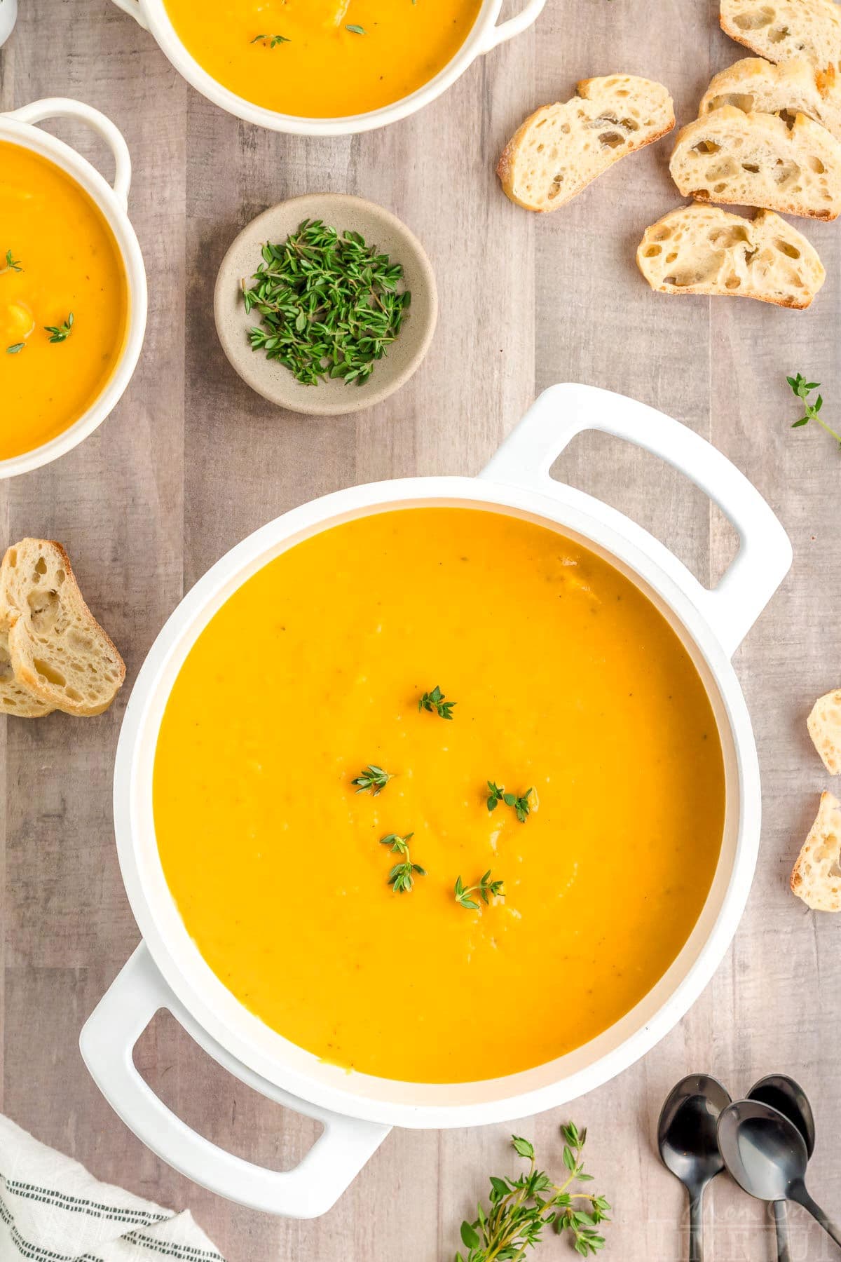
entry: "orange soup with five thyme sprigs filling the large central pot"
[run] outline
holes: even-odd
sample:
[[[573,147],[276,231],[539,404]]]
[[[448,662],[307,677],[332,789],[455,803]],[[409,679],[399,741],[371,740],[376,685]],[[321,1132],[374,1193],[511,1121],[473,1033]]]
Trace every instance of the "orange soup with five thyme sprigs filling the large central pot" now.
[[[628,1012],[701,911],[724,799],[705,689],[648,598],[472,509],[357,519],[248,579],[154,769],[166,881],[224,986],[319,1058],[425,1083]]]

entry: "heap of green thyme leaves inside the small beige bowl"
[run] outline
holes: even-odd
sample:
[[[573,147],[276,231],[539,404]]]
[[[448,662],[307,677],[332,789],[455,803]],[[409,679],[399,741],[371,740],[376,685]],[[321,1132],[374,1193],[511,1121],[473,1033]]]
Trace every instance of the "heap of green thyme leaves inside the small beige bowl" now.
[[[280,360],[298,381],[328,377],[362,385],[395,341],[411,302],[397,293],[403,269],[377,254],[358,232],[304,220],[280,245],[262,247],[246,312],[262,326],[248,332],[252,351]]]

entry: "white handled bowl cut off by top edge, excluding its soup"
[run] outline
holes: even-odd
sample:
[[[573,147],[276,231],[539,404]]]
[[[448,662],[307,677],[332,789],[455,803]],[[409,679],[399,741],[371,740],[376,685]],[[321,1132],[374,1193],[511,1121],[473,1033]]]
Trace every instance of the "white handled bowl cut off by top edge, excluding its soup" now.
[[[366,114],[348,114],[340,119],[306,119],[296,114],[279,114],[276,110],[255,105],[253,101],[238,96],[214,80],[187,50],[169,19],[164,0],[113,0],[113,3],[151,32],[165,56],[188,83],[192,83],[208,101],[222,106],[237,119],[245,119],[246,122],[253,122],[258,127],[269,127],[271,131],[289,131],[300,136],[348,136],[357,131],[373,131],[374,127],[385,127],[387,122],[397,122],[398,119],[405,119],[429,105],[460,74],[464,74],[477,57],[482,53],[489,53],[497,44],[527,30],[541,13],[546,0],[526,0],[525,8],[517,16],[502,21],[499,25],[497,25],[497,18],[502,9],[502,0],[483,0],[468,38],[429,83],[424,83],[422,87],[401,97],[400,101],[393,101],[392,105],[383,105],[381,109],[368,110]]]

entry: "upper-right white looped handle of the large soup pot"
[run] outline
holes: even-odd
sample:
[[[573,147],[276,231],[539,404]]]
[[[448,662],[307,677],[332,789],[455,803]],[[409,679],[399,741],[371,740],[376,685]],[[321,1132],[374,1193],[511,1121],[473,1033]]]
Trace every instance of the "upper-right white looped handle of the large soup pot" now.
[[[728,655],[741,644],[792,564],[788,535],[744,473],[711,443],[671,416],[595,386],[545,390],[502,444],[482,477],[551,495],[550,469],[576,434],[598,429],[659,456],[719,505],[739,534],[739,551],[716,588],[709,591],[647,530],[581,491],[585,509],[638,540],[701,610]],[[569,495],[565,491],[565,495]]]

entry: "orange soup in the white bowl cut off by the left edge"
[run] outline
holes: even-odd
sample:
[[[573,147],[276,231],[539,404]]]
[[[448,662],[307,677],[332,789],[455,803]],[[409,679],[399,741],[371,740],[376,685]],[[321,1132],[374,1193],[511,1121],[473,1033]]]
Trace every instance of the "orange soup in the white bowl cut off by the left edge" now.
[[[0,458],[63,433],[122,353],[129,289],[98,208],[59,167],[0,141]]]

